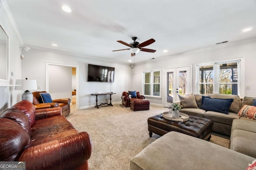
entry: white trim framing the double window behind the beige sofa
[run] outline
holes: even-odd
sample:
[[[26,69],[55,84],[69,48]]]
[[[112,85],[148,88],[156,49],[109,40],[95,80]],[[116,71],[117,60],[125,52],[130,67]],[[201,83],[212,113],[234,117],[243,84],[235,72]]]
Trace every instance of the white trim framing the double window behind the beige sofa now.
[[[228,84],[238,84],[237,90],[238,90],[238,96],[243,97],[244,96],[244,76],[242,76],[244,74],[244,57],[240,57],[240,58],[235,58],[235,59],[228,59],[228,60],[222,60],[222,61],[215,61],[215,62],[209,62],[209,63],[200,63],[200,64],[195,64],[196,67],[196,71],[195,71],[195,92],[196,94],[200,94],[199,91],[199,67],[200,66],[205,66],[205,65],[214,65],[214,70],[218,71],[219,70],[219,65],[222,63],[232,63],[232,62],[237,62],[237,67],[238,67],[238,80],[237,83],[228,83]],[[214,74],[214,80],[216,80],[216,82],[214,82],[214,93],[218,92],[218,87],[220,83],[219,81],[219,77],[217,76],[218,74]],[[210,83],[202,83],[202,84],[210,84]],[[217,85],[217,86],[216,86]]]

